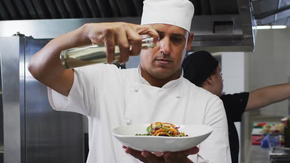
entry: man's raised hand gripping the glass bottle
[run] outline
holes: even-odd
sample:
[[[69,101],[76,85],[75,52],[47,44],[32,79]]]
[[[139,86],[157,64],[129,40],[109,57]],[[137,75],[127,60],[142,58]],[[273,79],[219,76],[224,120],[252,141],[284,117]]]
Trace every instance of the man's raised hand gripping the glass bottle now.
[[[91,43],[105,44],[108,63],[115,61],[115,45],[119,46],[119,63],[128,61],[130,55],[141,52],[141,35],[150,35],[154,42],[158,40],[158,33],[150,25],[135,25],[123,22],[86,24],[87,38]],[[130,44],[132,50],[130,51]]]

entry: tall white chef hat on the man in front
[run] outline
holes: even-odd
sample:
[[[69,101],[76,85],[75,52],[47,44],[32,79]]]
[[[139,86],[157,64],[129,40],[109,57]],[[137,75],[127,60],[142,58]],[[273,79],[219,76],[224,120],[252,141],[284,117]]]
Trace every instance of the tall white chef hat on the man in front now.
[[[141,25],[169,24],[190,31],[194,6],[189,0],[145,0]]]

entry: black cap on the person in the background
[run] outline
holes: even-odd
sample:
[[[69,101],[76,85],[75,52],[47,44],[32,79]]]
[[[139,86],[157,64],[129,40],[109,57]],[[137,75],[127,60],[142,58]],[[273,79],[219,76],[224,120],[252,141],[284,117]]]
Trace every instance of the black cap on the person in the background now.
[[[198,51],[188,55],[182,63],[183,77],[201,86],[210,75],[212,75],[219,61],[206,51]]]

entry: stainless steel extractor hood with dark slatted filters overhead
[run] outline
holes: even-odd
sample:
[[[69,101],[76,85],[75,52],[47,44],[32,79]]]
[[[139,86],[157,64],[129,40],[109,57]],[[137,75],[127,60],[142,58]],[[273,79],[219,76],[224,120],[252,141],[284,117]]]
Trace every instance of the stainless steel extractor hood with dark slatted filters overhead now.
[[[253,51],[249,0],[191,0],[193,51]],[[0,36],[54,38],[85,23],[140,23],[143,0],[0,0]],[[227,5],[225,5],[227,4]]]

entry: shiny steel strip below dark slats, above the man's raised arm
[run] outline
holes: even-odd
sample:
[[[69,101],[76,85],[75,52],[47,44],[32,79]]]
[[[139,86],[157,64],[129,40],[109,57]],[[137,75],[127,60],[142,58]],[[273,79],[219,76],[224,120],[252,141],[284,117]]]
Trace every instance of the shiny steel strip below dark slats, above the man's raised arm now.
[[[33,38],[55,38],[63,33],[74,30],[86,23],[128,22],[140,24],[140,17],[120,18],[84,18],[84,19],[47,19],[0,21],[0,37],[12,36],[19,31]]]

